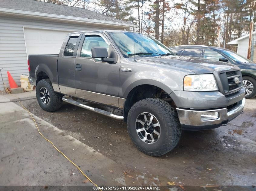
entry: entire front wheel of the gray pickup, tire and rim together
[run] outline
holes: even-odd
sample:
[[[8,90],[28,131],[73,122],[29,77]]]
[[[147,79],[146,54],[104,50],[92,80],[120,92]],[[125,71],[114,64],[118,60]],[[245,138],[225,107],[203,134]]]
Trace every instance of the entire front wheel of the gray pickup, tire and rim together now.
[[[135,103],[128,113],[127,128],[135,145],[151,156],[168,153],[181,137],[177,112],[169,103],[158,98]]]

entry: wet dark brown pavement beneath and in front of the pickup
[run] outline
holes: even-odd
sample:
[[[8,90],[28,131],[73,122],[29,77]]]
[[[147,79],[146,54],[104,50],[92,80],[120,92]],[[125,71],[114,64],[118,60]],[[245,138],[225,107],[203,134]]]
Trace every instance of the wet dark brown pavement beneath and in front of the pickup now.
[[[125,166],[125,178],[115,180],[120,184],[256,185],[256,98],[246,100],[244,114],[227,126],[183,131],[178,146],[161,157],[140,152],[121,121],[65,103],[52,113],[42,110],[36,99],[22,103],[36,116]]]

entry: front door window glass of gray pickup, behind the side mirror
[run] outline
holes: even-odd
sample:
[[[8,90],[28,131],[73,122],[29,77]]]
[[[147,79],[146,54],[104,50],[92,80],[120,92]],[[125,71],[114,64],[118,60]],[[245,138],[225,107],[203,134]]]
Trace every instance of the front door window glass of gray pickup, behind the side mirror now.
[[[105,40],[98,35],[87,35],[85,36],[85,40],[81,49],[81,57],[92,57],[91,56],[91,47],[101,46],[105,47],[107,50],[109,49],[108,44]],[[101,60],[101,59],[96,59]]]

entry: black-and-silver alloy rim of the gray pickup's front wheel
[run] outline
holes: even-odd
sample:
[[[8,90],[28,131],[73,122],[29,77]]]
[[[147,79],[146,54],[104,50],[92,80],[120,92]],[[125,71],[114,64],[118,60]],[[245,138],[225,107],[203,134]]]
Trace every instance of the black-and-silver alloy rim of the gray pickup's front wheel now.
[[[139,138],[145,143],[155,143],[160,137],[160,123],[151,113],[143,112],[139,114],[135,126]]]

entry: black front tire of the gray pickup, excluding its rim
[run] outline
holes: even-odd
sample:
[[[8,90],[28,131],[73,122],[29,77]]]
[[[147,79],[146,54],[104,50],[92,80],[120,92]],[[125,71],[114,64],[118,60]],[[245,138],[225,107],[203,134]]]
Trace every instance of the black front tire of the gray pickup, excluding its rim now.
[[[142,141],[136,131],[135,121],[143,112],[153,114],[161,126],[160,137],[153,144]],[[136,102],[128,113],[127,128],[135,145],[150,156],[168,153],[176,147],[181,137],[181,126],[176,110],[169,103],[158,98],[147,98]]]

